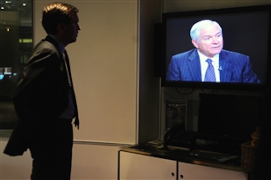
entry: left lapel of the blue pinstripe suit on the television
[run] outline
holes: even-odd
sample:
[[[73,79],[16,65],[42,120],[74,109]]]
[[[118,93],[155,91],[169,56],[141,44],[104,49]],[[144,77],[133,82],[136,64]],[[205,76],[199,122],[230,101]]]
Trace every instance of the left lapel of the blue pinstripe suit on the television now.
[[[201,64],[199,62],[197,49],[194,49],[188,59],[189,61],[187,65],[192,81],[201,81]]]

